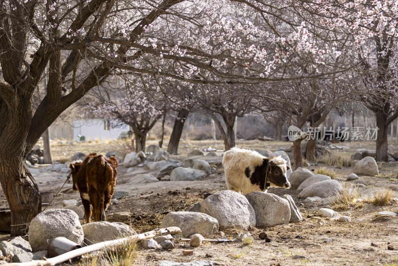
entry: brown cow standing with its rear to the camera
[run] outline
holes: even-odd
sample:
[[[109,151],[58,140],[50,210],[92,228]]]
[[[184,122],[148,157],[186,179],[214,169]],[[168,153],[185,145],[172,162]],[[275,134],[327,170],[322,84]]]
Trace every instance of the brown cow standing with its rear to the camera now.
[[[84,161],[69,164],[73,190],[80,192],[86,223],[90,223],[93,205],[94,221],[106,221],[105,210],[110,203],[117,181],[117,159],[90,153]]]

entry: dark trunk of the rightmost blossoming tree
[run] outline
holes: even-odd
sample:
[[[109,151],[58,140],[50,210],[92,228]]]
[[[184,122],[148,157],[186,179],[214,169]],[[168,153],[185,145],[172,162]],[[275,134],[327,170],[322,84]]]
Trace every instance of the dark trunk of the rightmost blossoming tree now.
[[[376,113],[376,126],[379,128],[376,139],[376,160],[387,161],[388,150],[388,125],[386,125],[387,115],[380,110]]]

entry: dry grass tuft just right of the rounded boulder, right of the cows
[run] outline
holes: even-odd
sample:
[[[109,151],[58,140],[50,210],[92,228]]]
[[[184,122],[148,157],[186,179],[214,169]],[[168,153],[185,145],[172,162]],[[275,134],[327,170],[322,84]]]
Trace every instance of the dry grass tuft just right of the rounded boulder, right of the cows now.
[[[350,207],[363,207],[363,200],[356,186],[344,186],[340,193],[332,199],[333,201],[330,203],[332,209],[347,210]]]

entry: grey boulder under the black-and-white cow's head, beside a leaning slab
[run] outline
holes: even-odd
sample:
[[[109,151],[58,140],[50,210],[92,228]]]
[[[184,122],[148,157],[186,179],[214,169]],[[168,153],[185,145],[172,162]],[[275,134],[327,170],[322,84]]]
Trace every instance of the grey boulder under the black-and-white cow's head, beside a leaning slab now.
[[[254,212],[256,213],[256,227],[289,223],[291,211],[287,199],[261,191],[251,192],[246,194],[245,197],[253,206]]]

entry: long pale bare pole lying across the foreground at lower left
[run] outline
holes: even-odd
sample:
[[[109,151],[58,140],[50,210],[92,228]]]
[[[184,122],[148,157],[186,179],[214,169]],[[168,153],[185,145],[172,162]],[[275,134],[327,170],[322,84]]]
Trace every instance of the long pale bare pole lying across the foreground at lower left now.
[[[73,251],[64,253],[60,256],[50,258],[45,261],[31,261],[28,263],[10,263],[10,264],[7,264],[7,266],[47,266],[47,265],[53,266],[53,265],[56,265],[59,263],[66,262],[72,258],[82,256],[83,254],[86,254],[86,253],[90,253],[93,251],[99,251],[99,250],[104,249],[109,246],[121,244],[122,242],[125,242],[125,241],[131,241],[131,240],[138,241],[138,240],[143,240],[143,239],[154,238],[159,235],[168,235],[168,234],[171,234],[171,235],[181,234],[181,229],[178,227],[155,229],[155,230],[152,230],[152,231],[149,231],[146,233],[142,233],[139,235],[134,235],[131,237],[100,242],[100,243],[97,243],[97,244],[94,244],[91,246],[87,246],[84,248],[80,248],[77,250],[73,250]]]

